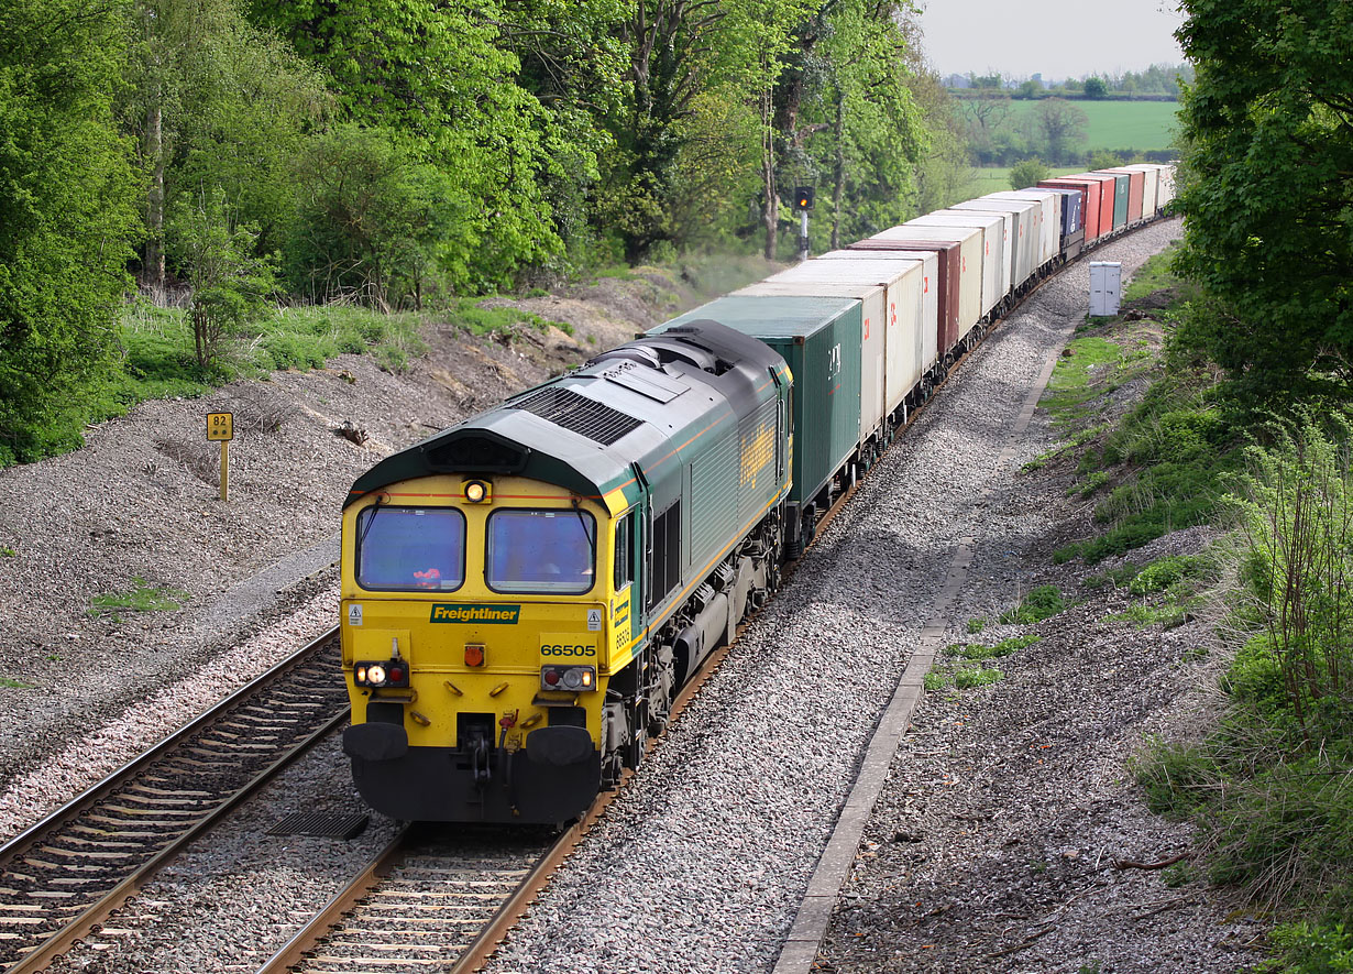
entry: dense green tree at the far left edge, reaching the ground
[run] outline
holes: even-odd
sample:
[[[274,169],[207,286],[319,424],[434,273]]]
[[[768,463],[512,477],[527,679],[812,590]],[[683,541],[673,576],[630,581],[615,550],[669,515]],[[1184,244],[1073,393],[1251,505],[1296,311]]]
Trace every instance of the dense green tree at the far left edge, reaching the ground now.
[[[139,192],[112,116],[126,15],[0,5],[0,465],[78,445],[112,368]]]

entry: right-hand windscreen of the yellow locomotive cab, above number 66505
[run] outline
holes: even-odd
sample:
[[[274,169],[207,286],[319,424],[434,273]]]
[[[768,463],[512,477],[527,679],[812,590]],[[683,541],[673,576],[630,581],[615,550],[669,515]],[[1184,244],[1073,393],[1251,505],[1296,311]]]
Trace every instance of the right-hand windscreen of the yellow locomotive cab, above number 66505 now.
[[[597,521],[584,510],[497,510],[484,580],[498,593],[582,595],[597,564]]]

